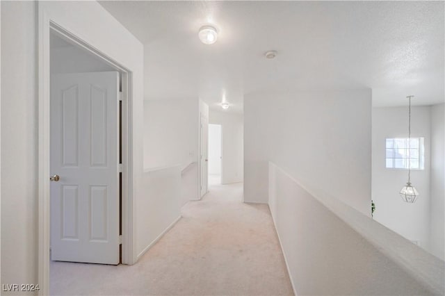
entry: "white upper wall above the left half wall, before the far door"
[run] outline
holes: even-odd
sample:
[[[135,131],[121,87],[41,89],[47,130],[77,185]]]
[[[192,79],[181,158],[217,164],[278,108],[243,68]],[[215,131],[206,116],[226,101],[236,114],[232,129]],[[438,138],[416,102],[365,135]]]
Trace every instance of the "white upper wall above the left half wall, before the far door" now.
[[[144,167],[197,161],[197,99],[144,101]]]

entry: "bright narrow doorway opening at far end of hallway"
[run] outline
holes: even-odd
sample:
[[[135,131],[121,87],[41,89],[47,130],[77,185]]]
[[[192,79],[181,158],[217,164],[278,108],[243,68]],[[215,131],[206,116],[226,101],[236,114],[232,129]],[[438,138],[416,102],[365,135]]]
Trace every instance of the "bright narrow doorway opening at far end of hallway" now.
[[[209,124],[209,186],[221,184],[223,126]]]

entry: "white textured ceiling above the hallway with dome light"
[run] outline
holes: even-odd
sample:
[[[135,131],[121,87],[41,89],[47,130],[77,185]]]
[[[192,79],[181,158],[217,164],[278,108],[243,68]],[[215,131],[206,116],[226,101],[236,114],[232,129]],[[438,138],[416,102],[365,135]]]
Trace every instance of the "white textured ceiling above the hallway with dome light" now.
[[[145,44],[145,99],[371,88],[374,106],[444,101],[443,1],[101,1]],[[197,38],[204,24],[218,42]],[[275,49],[277,58],[264,52]]]

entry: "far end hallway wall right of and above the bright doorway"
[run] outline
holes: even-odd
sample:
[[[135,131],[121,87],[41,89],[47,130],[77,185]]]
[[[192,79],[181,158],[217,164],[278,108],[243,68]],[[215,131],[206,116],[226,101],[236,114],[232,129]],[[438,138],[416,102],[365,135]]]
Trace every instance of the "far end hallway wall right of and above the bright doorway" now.
[[[211,109],[209,123],[222,126],[221,183],[242,182],[244,179],[243,115]]]

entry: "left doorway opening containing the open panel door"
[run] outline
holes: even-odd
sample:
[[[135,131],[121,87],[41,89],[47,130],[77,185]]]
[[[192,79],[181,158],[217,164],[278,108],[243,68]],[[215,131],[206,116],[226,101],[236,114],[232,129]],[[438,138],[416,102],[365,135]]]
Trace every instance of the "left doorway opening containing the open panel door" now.
[[[122,211],[129,202],[131,78],[56,26],[50,27],[49,60],[51,182],[44,264],[51,293],[76,263],[131,263],[129,212]]]

